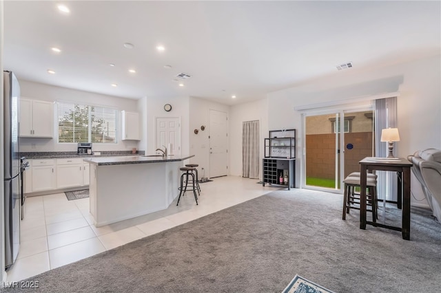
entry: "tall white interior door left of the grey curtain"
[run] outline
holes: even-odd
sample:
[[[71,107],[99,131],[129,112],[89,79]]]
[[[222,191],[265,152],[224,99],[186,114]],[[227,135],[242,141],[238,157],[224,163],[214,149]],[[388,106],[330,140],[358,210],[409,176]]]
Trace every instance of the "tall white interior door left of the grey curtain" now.
[[[209,177],[226,176],[228,172],[227,113],[209,111]]]

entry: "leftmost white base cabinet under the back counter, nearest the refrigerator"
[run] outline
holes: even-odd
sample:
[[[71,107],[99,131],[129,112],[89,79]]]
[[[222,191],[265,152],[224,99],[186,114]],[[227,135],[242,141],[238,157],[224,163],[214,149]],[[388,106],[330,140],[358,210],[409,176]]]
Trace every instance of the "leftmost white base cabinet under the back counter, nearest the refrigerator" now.
[[[55,160],[32,160],[32,192],[56,188]]]

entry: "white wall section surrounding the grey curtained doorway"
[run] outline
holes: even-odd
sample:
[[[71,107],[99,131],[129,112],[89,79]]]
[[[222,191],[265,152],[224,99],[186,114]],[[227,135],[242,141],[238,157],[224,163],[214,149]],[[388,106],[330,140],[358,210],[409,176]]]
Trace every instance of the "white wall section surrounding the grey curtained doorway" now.
[[[259,120],[260,124],[260,175],[262,179],[263,139],[268,137],[268,100],[262,99],[230,107],[229,114],[229,175],[242,176],[242,124],[245,121]]]

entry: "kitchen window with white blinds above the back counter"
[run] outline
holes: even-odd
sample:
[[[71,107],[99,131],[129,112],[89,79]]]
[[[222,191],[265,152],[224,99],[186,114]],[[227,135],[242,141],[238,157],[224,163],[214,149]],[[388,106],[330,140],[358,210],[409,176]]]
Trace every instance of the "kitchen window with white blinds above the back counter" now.
[[[57,102],[58,142],[116,143],[116,109]]]

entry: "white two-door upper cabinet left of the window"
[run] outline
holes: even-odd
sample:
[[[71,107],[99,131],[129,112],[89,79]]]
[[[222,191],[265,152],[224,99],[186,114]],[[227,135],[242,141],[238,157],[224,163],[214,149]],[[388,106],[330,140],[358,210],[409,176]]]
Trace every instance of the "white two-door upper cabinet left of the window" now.
[[[53,103],[21,98],[20,136],[22,138],[52,138],[53,132]]]

